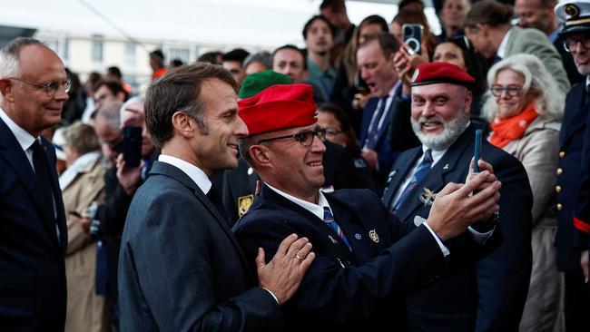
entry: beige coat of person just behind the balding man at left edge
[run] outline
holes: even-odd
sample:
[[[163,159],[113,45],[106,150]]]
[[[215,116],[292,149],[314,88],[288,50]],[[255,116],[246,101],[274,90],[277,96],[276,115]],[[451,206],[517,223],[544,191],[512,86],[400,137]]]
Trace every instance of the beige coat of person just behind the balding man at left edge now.
[[[104,297],[94,292],[96,244],[84,233],[79,224],[71,220],[70,210],[85,210],[93,200],[101,198],[104,172],[101,158],[90,162],[79,171],[64,188],[64,206],[67,215],[68,247],[65,257],[67,277],[67,314],[65,331],[108,331],[110,319]]]

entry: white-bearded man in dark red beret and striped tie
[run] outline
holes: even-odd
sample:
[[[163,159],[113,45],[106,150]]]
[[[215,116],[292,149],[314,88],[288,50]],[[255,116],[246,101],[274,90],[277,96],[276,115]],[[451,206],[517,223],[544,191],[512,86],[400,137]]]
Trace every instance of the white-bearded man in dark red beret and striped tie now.
[[[422,145],[404,151],[389,173],[383,202],[399,220],[419,224],[449,182],[463,181],[473,157],[469,125],[475,80],[450,63],[418,66],[412,83],[411,122]],[[457,80],[457,75],[468,80]],[[482,140],[481,158],[499,181],[499,224],[505,241],[472,269],[444,278],[408,298],[414,331],[516,331],[531,272],[533,196],[522,164]],[[510,303],[510,306],[506,306]]]

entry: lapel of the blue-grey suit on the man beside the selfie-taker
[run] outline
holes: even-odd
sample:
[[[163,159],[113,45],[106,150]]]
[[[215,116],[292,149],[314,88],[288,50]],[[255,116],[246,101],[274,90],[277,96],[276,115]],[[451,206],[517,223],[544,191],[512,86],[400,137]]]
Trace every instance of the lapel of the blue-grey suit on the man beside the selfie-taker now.
[[[215,220],[219,224],[221,229],[223,229],[223,232],[230,239],[231,244],[238,253],[238,256],[240,256],[244,269],[248,270],[248,273],[250,273],[251,278],[256,278],[256,274],[254,274],[254,272],[251,270],[251,264],[246,259],[246,256],[244,255],[244,252],[241,249],[241,245],[238,239],[236,239],[235,235],[230,229],[230,224],[228,220],[225,220],[221,216],[221,213],[217,210],[217,208],[215,208],[213,203],[211,203],[211,200],[209,200],[207,196],[205,196],[201,188],[199,188],[199,186],[194,181],[192,181],[192,179],[188,175],[186,175],[186,173],[168,163],[160,161],[153,162],[152,171],[150,171],[150,173],[159,173],[169,176],[172,179],[181,182],[185,187],[191,189],[195,198],[201,201],[202,205],[205,206],[207,210],[209,210],[211,216],[213,217],[213,220]]]

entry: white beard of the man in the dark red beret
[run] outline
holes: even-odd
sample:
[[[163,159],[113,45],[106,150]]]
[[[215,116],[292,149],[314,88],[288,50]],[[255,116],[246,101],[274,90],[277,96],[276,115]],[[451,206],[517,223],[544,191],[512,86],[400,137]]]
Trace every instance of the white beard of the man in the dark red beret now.
[[[455,119],[446,122],[440,115],[423,116],[418,118],[418,121],[414,118],[410,118],[412,122],[412,130],[418,137],[418,140],[422,142],[429,149],[434,151],[447,150],[457,138],[465,132],[467,125],[469,124],[469,113],[465,110],[461,110],[457,113]],[[438,134],[427,134],[422,132],[422,124],[428,121],[440,122],[443,126],[443,131]]]

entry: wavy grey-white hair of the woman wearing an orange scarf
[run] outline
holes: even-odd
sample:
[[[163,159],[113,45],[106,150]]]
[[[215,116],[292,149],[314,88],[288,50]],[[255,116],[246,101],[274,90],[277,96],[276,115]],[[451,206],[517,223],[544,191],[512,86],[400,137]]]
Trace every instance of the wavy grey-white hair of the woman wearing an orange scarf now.
[[[496,118],[497,103],[489,87],[496,82],[497,73],[509,69],[525,77],[523,95],[534,92],[535,110],[546,120],[561,120],[564,116],[565,93],[559,89],[556,80],[547,72],[545,65],[535,55],[516,54],[494,64],[487,72],[486,103],[483,114],[488,121]]]

